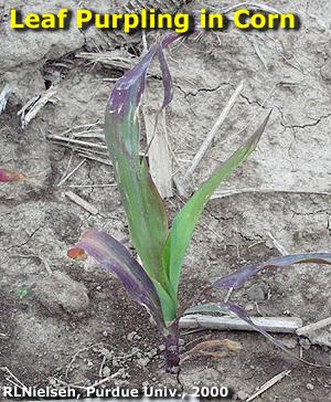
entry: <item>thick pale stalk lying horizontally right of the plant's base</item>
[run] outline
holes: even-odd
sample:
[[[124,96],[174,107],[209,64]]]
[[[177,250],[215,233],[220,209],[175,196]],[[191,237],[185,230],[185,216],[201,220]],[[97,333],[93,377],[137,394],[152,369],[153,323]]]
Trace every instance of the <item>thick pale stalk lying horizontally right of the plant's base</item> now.
[[[268,332],[296,334],[296,330],[302,327],[302,320],[298,317],[250,317],[250,319]],[[182,317],[180,328],[255,331],[246,321],[237,317],[214,317],[199,314]]]

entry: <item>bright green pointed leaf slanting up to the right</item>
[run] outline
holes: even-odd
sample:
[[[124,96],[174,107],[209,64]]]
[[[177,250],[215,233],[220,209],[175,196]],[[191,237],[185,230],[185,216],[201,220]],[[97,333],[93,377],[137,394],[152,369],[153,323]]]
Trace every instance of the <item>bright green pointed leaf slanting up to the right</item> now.
[[[191,197],[177,214],[163,250],[163,263],[168,267],[173,297],[177,297],[181,267],[194,228],[214,191],[256,148],[268,123],[271,112],[257,128],[255,134],[238,148]]]

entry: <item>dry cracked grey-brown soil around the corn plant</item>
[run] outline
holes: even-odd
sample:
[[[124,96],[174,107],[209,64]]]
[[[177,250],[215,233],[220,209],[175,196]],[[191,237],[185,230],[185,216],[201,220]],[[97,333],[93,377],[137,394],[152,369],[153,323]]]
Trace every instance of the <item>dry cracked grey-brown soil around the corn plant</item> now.
[[[0,6],[2,21],[10,7],[22,7],[19,1],[7,3]],[[75,10],[82,3],[107,10],[105,1],[71,0],[65,7]],[[220,8],[216,1],[205,4]],[[278,0],[268,4],[296,11],[301,29],[210,32],[168,52],[174,99],[167,123],[181,171],[245,80],[241,97],[195,171],[194,188],[243,142],[267,110],[274,110],[258,149],[220,189],[235,193],[211,201],[194,233],[181,281],[182,305],[203,285],[243,264],[279,255],[269,233],[289,253],[330,250],[331,3],[298,0],[289,6]],[[54,2],[55,9],[60,6]],[[193,1],[189,9],[200,7]],[[34,0],[23,9],[42,12],[47,6]],[[149,43],[153,40],[149,33]],[[140,38],[118,39],[74,28],[18,33],[3,22],[0,51],[1,87],[15,85],[0,116],[0,162],[30,178],[0,188],[0,385],[13,380],[8,368],[25,385],[87,387],[118,372],[103,387],[178,388],[177,379],[164,372],[162,339],[148,315],[93,261],[66,257],[68,247],[89,228],[107,231],[131,247],[111,167],[86,160],[58,187],[83,158],[46,138],[83,125],[102,127],[114,80],[124,73],[121,67],[90,64],[77,54],[117,52],[136,63],[142,51]],[[52,84],[56,95],[22,129],[18,112]],[[150,77],[149,85],[157,93],[158,76]],[[65,197],[66,191],[99,212],[85,211]],[[166,204],[173,214],[182,201],[174,195]],[[236,292],[233,300],[252,315],[289,315],[314,322],[330,316],[330,267],[314,265],[267,272]],[[277,337],[297,356],[301,349],[305,359],[331,364],[328,331],[317,337],[318,345],[295,336]],[[245,400],[274,375],[291,370],[257,400],[331,400],[329,370],[291,359],[260,335],[182,334],[183,349],[224,338],[241,342],[241,352],[185,361],[180,380],[186,392],[193,385],[227,385],[233,398]]]

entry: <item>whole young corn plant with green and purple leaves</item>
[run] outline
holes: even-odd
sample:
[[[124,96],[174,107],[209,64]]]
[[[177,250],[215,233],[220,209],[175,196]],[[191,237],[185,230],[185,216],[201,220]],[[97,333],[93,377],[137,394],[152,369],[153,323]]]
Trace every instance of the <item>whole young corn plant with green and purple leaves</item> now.
[[[68,251],[68,256],[84,260],[87,255],[110,271],[122,283],[131,297],[142,305],[164,337],[167,371],[178,372],[179,314],[178,288],[181,268],[194,228],[213,192],[256,148],[269,115],[257,130],[239,147],[188,200],[175,215],[171,228],[163,201],[149,172],[147,158],[139,154],[139,106],[146,88],[147,72],[158,57],[164,89],[163,105],[172,99],[172,80],[163,54],[164,47],[178,40],[168,34],[154,44],[135,68],[126,73],[114,86],[106,108],[105,138],[122,204],[128,219],[131,241],[141,264],[111,235],[89,230]],[[261,265],[252,265],[217,281],[215,288],[235,288],[260,269],[313,261],[331,263],[330,254],[296,255],[276,258]],[[234,314],[256,327],[238,306],[220,305],[222,311]]]

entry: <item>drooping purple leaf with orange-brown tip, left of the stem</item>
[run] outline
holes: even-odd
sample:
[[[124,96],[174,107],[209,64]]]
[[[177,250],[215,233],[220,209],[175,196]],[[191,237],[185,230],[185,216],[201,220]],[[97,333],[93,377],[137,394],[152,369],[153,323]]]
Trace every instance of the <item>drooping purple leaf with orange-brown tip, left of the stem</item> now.
[[[163,318],[156,287],[142,266],[129,251],[107,233],[86,231],[75,247],[68,251],[74,260],[84,260],[87,253],[122,283],[130,296],[147,308],[157,326],[162,329]]]

